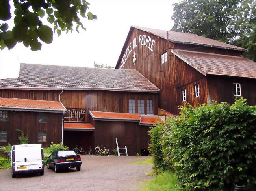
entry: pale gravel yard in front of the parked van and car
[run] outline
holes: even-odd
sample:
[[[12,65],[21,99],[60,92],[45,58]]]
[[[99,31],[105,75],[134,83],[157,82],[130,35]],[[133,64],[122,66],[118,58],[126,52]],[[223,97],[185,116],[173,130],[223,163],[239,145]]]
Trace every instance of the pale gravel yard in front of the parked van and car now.
[[[45,175],[18,175],[11,178],[11,170],[0,170],[0,191],[127,191],[137,190],[139,181],[148,180],[145,175],[151,165],[130,164],[146,160],[137,156],[89,156],[81,155],[81,171],[69,169],[55,173],[45,167]]]

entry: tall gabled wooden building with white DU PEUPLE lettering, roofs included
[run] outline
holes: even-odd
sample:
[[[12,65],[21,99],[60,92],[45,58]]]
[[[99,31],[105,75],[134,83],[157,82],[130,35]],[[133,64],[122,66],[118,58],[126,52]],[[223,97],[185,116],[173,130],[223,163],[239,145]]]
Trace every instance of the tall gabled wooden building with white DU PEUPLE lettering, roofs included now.
[[[132,26],[115,68],[136,69],[159,89],[158,107],[178,114],[180,105],[236,97],[256,104],[256,63],[246,49],[197,35]]]

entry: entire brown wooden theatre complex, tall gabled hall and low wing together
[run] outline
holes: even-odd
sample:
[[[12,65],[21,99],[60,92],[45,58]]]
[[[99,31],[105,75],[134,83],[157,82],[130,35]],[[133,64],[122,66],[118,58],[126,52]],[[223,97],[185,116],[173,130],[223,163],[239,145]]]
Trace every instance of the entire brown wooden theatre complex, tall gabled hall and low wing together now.
[[[104,145],[147,149],[160,115],[178,115],[186,101],[256,104],[256,63],[246,49],[188,33],[132,26],[116,69],[21,64],[0,80],[0,146],[63,142],[70,149]]]

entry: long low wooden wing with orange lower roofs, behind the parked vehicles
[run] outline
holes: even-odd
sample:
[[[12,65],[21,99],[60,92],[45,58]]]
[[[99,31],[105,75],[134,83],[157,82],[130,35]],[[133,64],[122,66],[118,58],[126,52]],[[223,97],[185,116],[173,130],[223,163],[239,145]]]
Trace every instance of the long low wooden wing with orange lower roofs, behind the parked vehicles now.
[[[0,80],[0,146],[63,143],[148,148],[148,129],[161,120],[159,89],[138,71],[21,64],[19,78]]]

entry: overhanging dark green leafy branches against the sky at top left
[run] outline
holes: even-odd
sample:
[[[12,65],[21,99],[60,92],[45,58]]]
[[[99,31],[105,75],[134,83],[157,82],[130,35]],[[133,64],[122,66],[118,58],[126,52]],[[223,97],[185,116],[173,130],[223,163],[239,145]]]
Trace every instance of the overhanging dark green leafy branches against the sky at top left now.
[[[72,32],[73,24],[76,24],[77,32],[80,27],[85,30],[80,17],[86,17],[88,5],[86,0],[13,0],[12,15],[10,0],[1,0],[0,49],[6,46],[11,49],[17,42],[23,42],[32,51],[41,50],[42,44],[38,38],[42,42],[51,43],[53,31],[42,20],[45,17],[54,25],[53,30],[58,36],[61,31]],[[88,20],[97,19],[91,12],[87,12],[87,17]],[[13,29],[9,29],[10,22],[14,23]]]

